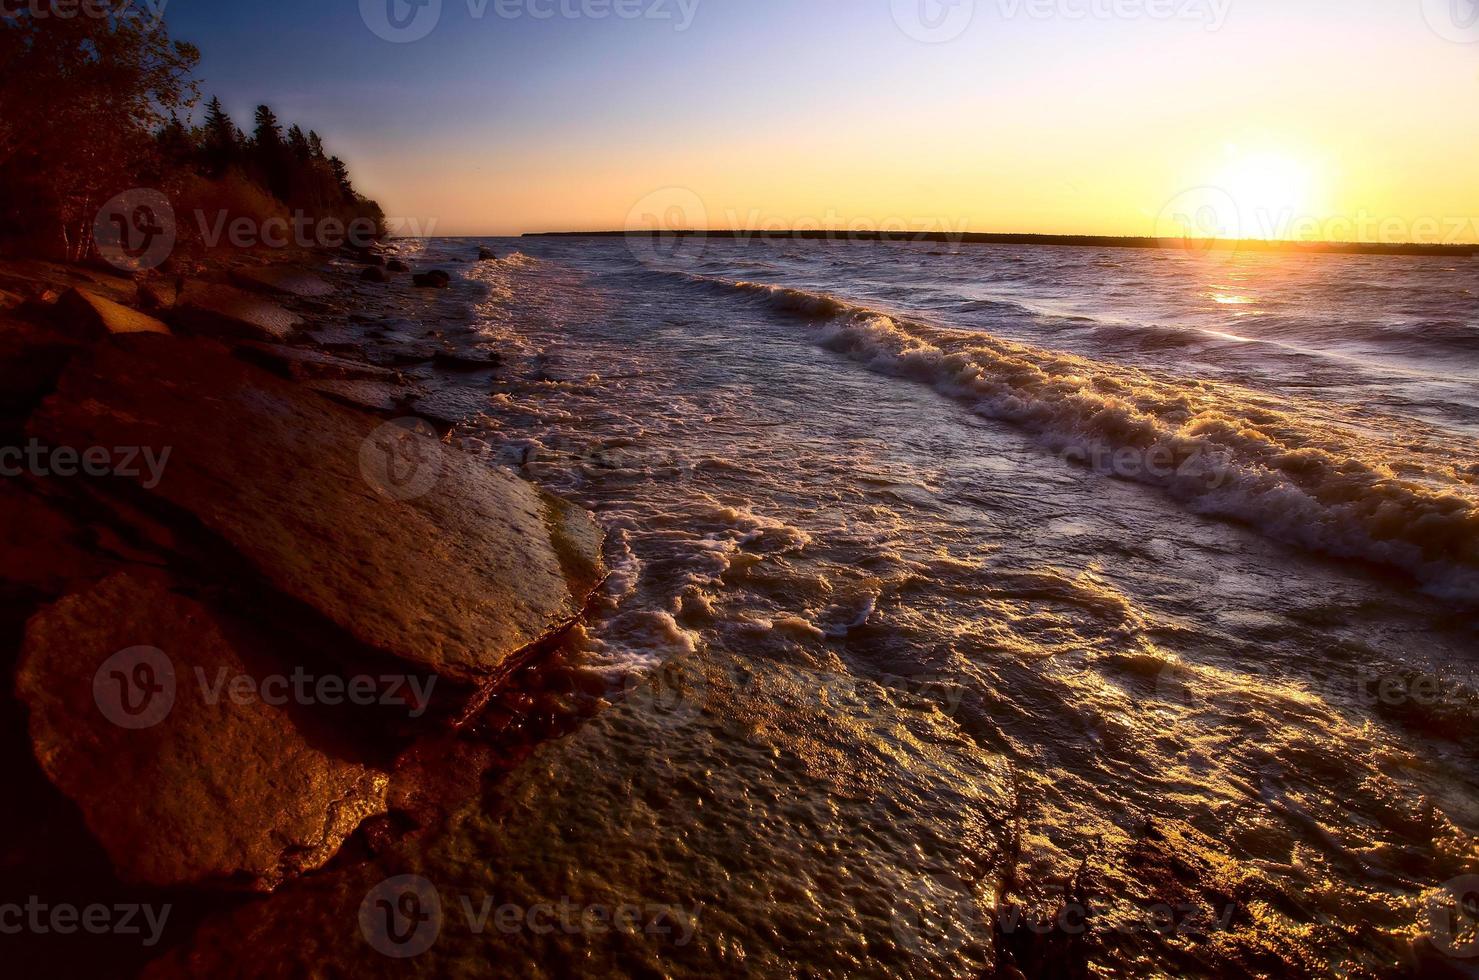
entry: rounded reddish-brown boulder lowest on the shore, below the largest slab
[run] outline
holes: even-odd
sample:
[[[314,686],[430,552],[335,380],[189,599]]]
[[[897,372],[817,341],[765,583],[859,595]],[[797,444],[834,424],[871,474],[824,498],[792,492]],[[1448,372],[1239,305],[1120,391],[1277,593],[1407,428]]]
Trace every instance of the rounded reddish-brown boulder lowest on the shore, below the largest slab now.
[[[16,695],[35,757],[121,878],[269,891],[385,811],[389,777],[319,748],[288,710],[209,696],[220,671],[274,668],[290,670],[244,653],[158,572],[120,572],[31,619]]]

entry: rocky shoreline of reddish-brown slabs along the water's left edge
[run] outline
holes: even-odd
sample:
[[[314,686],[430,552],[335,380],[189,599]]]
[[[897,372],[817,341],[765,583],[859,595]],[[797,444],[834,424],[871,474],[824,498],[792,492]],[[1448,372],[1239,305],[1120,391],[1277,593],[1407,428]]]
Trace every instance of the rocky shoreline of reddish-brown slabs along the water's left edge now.
[[[192,272],[0,262],[0,860],[12,896],[177,911],[146,947],[33,934],[22,970],[136,971],[608,693],[559,656],[593,517],[444,439],[498,370],[476,284],[379,247]]]

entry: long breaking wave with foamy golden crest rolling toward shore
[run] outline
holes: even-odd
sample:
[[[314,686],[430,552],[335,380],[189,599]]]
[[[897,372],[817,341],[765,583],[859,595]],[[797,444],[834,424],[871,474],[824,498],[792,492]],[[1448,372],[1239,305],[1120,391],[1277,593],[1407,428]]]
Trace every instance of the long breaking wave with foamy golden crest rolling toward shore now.
[[[1160,486],[1197,513],[1479,600],[1475,455],[1444,446],[1424,457],[1435,436],[1414,423],[1381,420],[1377,432],[1370,417],[1330,404],[942,330],[827,293],[676,275],[812,321],[822,346],[932,384],[1065,458]]]

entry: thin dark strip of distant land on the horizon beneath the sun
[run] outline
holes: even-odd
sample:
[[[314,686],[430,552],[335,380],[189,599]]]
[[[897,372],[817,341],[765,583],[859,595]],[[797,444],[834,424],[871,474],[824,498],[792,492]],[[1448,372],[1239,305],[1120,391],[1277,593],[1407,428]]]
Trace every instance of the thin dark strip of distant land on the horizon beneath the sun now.
[[[1331,241],[1266,241],[1262,238],[1148,238],[1111,235],[1006,235],[992,232],[847,232],[847,231],[760,231],[760,232],[525,232],[524,238],[774,238],[793,241],[893,241],[945,245],[1066,245],[1074,248],[1165,248],[1182,251],[1259,251],[1337,256],[1417,256],[1426,259],[1472,259],[1476,245],[1417,245]]]

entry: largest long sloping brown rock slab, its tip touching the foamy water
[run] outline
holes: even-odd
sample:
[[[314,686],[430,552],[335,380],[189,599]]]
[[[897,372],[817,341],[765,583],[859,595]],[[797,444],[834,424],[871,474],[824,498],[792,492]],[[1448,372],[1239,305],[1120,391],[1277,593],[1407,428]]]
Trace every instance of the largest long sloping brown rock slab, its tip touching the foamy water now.
[[[148,492],[361,643],[451,680],[501,681],[603,574],[586,511],[206,341],[89,349],[30,429],[169,446]]]

